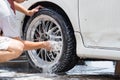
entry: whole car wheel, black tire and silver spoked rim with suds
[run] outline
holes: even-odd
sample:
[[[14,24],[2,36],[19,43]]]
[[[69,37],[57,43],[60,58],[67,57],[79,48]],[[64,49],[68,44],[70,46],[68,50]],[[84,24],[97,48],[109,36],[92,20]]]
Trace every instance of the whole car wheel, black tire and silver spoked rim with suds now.
[[[52,27],[51,32],[49,29],[45,30],[47,27]],[[25,27],[24,38],[34,42],[49,40],[60,42],[58,52],[50,52],[45,49],[27,51],[28,60],[38,70],[42,68],[43,72],[66,72],[78,61],[74,31],[64,16],[52,9],[40,9],[30,17]]]

